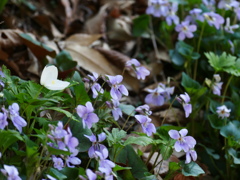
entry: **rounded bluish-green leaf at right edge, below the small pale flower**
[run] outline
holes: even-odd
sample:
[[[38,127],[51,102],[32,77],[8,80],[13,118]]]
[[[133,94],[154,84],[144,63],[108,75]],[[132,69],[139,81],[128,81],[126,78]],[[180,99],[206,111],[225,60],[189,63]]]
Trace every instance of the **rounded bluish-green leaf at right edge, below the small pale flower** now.
[[[221,128],[220,134],[226,138],[233,137],[235,140],[238,141],[240,139],[240,122],[229,122],[226,126],[223,126]]]

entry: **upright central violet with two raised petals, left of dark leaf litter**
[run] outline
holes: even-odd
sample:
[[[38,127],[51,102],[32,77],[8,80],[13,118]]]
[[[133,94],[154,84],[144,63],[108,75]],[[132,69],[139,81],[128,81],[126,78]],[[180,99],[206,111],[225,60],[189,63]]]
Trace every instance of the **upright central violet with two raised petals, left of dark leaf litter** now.
[[[107,75],[107,77],[108,83],[111,86],[110,95],[113,99],[120,100],[122,98],[122,95],[128,96],[127,88],[124,85],[120,84],[123,80],[123,77],[121,75]]]

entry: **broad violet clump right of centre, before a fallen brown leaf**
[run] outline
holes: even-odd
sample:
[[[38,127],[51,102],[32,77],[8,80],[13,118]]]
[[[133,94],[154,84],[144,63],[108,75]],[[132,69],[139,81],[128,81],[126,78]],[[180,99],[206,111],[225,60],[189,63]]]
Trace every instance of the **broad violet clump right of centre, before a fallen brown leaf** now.
[[[171,98],[174,87],[166,87],[165,84],[159,83],[155,89],[147,89],[150,93],[145,97],[145,103],[155,106],[162,106]]]

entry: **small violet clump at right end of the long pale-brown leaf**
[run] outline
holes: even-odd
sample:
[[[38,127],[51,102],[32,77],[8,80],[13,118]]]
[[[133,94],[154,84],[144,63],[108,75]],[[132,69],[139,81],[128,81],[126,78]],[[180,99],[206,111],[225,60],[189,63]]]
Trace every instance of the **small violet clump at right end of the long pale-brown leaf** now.
[[[145,68],[144,66],[142,66],[137,59],[131,59],[127,61],[126,67],[134,70],[137,75],[137,79],[144,80],[146,76],[150,74],[150,71],[147,70],[147,68]]]

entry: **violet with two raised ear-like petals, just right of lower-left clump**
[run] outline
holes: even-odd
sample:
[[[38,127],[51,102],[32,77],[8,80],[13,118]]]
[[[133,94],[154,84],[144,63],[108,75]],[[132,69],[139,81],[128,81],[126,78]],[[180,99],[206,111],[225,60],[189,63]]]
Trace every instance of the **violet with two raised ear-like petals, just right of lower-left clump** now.
[[[92,142],[92,146],[88,150],[88,156],[90,158],[98,159],[100,155],[104,159],[108,157],[108,149],[106,148],[106,146],[99,144],[100,142],[106,139],[106,134],[104,132],[102,132],[101,134],[98,134],[98,140],[94,134],[92,134],[91,136],[87,136],[87,135],[84,135],[84,136],[87,137]]]

